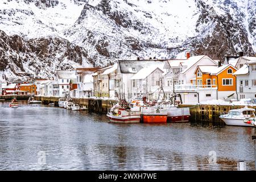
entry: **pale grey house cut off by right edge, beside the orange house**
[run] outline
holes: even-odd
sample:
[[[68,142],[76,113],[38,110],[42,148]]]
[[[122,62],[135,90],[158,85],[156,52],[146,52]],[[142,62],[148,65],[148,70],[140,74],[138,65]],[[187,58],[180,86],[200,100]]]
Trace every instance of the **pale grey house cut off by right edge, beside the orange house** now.
[[[250,59],[233,73],[237,78],[236,90],[237,99],[255,98],[256,97],[256,57],[250,57]]]

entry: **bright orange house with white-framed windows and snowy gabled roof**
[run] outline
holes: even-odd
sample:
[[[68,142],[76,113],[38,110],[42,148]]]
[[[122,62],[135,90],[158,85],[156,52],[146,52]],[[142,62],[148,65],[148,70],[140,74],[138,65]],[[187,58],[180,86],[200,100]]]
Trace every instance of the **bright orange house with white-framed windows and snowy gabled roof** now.
[[[195,70],[196,85],[202,88],[217,88],[217,99],[229,97],[236,93],[237,68],[231,64],[218,66],[197,66]]]

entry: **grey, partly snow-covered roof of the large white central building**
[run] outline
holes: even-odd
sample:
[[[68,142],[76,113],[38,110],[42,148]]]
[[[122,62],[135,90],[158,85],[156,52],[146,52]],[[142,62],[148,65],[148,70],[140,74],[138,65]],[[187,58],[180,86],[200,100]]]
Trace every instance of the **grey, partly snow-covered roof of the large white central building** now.
[[[154,66],[163,69],[166,60],[118,60],[121,73],[137,73],[142,68]]]

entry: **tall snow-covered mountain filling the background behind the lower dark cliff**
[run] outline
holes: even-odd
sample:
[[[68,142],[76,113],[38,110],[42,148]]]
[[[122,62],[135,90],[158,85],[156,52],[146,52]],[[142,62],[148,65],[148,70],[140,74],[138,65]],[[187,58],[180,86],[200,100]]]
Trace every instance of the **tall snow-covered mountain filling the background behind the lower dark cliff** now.
[[[240,51],[254,55],[255,13],[255,0],[2,0],[0,30],[25,42],[52,36],[79,46],[83,62],[95,66],[187,51],[224,59]]]

